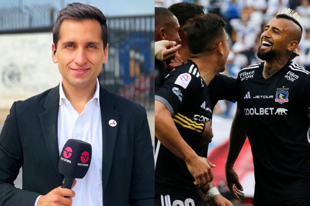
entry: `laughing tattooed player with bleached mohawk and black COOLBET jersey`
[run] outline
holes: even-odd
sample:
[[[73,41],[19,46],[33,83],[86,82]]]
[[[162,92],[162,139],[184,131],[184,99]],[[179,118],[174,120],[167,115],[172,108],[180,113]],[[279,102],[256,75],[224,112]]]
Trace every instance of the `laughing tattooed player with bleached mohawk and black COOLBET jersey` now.
[[[233,164],[248,135],[254,162],[256,206],[310,205],[310,72],[290,61],[302,35],[299,15],[283,9],[261,35],[257,56],[237,79],[238,108],[246,131],[232,124],[226,177],[242,186]]]

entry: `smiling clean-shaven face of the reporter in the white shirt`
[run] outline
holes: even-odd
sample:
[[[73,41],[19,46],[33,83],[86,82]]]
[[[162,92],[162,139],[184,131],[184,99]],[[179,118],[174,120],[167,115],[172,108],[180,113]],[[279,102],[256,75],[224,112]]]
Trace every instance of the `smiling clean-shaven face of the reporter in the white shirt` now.
[[[108,57],[108,45],[103,49],[101,32],[100,23],[93,19],[65,19],[62,22],[57,51],[55,56],[52,54],[52,59],[58,63],[64,87],[95,85],[102,64]]]

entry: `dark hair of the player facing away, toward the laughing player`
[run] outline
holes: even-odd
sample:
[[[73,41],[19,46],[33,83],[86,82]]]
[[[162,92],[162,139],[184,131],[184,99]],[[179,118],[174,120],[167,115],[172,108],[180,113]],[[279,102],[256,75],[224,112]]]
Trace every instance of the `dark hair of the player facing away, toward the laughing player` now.
[[[211,45],[217,38],[224,35],[226,23],[216,14],[198,15],[188,20],[183,30],[185,31],[188,49],[192,54],[210,51]]]

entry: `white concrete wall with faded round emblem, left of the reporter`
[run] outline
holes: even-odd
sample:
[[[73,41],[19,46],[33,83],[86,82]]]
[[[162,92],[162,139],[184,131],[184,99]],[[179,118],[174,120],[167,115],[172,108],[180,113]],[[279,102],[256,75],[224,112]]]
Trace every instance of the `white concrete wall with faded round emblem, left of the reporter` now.
[[[0,35],[0,110],[59,84],[52,43],[51,32]]]

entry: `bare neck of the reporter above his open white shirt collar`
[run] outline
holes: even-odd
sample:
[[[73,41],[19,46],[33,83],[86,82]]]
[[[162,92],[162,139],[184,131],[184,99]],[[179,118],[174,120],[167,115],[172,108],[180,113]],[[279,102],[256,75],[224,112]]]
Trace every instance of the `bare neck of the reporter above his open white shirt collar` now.
[[[62,86],[66,98],[72,104],[73,108],[81,114],[87,102],[94,97],[96,82],[83,88],[77,88],[63,81]]]

